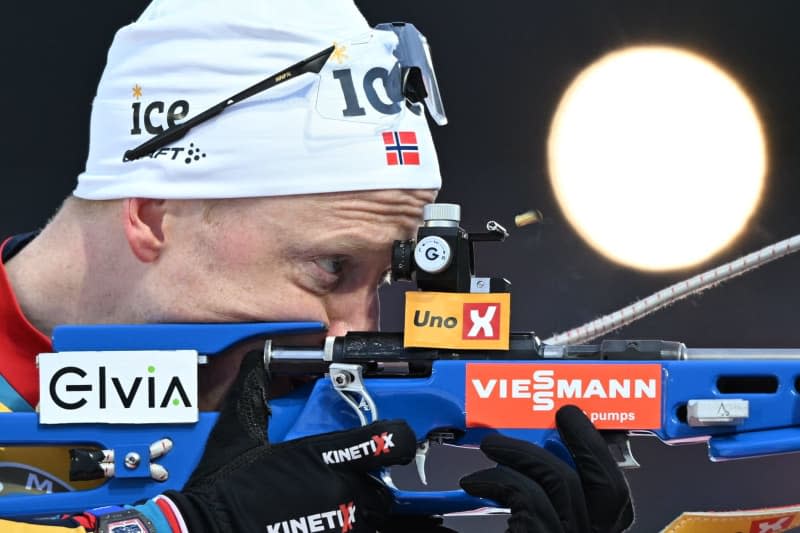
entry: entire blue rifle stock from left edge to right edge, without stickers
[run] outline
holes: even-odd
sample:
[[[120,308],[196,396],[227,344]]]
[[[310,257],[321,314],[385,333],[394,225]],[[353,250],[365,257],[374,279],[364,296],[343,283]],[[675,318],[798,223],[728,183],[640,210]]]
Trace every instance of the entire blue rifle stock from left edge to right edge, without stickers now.
[[[170,330],[171,327],[177,329]],[[191,348],[213,356],[253,336],[319,331],[322,325],[318,323],[72,326],[56,330],[54,346],[57,351]],[[545,446],[566,457],[552,429],[467,427],[467,365],[513,363],[531,365],[533,370],[545,362],[600,363],[614,365],[622,375],[629,365],[655,363],[660,365],[661,421],[659,428],[648,433],[668,443],[707,440],[712,460],[800,450],[797,427],[800,415],[796,404],[800,380],[798,350],[686,350],[679,343],[661,341],[543,346],[532,334],[514,335],[509,352],[404,350],[399,335],[382,333],[349,334],[337,338],[336,343],[326,343],[325,350],[316,351],[272,349],[268,345],[265,352],[269,353],[270,368],[278,372],[308,365],[329,371],[325,377],[270,402],[270,440],[281,442],[352,428],[363,423],[366,409],[380,418],[407,420],[420,442],[430,438],[456,446],[477,446],[487,433],[496,431]],[[400,370],[393,369],[398,364]],[[337,377],[359,368],[364,370],[363,382],[352,374],[341,381]],[[356,401],[348,401],[341,394],[341,389],[348,389],[353,383],[363,383],[368,393],[367,405],[360,406],[357,397]],[[715,415],[700,416],[693,412],[690,406],[698,400],[706,402],[706,408],[716,409]],[[734,412],[743,406],[746,412]],[[201,413],[199,422],[190,425],[43,426],[34,413],[2,414],[0,445],[96,444],[114,449],[117,462],[129,451],[148,457],[148,444],[161,438],[172,439],[174,445],[170,453],[155,460],[169,472],[165,482],[150,478],[147,461],[136,469],[125,469],[120,464],[117,475],[96,489],[0,497],[0,516],[80,511],[180,489],[199,461],[201,443],[215,420],[215,413]],[[408,513],[447,513],[491,505],[460,490],[395,490],[395,497],[397,510]]]

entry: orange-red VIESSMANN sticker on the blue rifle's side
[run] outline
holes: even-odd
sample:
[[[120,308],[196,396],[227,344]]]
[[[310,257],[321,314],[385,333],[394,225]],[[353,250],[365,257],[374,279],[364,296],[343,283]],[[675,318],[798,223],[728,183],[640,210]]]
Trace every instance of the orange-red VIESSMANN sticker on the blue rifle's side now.
[[[467,363],[467,427],[546,429],[577,405],[598,429],[661,427],[661,365]]]

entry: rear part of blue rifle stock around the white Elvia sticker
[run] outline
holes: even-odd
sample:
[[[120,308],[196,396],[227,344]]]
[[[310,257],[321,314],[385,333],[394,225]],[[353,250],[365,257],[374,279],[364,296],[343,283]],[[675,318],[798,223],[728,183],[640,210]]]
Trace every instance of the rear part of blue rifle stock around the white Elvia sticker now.
[[[318,322],[60,326],[55,328],[52,341],[56,352],[193,349],[213,357],[253,337],[320,331],[324,331],[324,325]],[[168,489],[180,490],[199,462],[203,444],[216,420],[217,413],[204,412],[200,413],[196,424],[42,425],[36,413],[0,413],[0,446],[96,446],[115,451],[116,467],[114,477],[87,491],[0,494],[0,516],[76,512],[102,505],[132,503]],[[150,443],[162,438],[173,442],[172,451],[155,460],[167,470],[166,481],[151,478],[149,461],[142,461],[135,469],[123,466],[128,452],[149,457]]]

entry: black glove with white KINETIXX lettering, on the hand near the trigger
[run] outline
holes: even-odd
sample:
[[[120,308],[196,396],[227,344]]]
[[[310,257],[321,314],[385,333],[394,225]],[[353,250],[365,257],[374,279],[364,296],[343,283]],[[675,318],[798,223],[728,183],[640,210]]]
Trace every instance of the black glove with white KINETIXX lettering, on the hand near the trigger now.
[[[356,533],[384,522],[391,496],[366,472],[411,461],[411,428],[383,421],[270,445],[266,399],[262,356],[252,352],[197,469],[182,491],[165,494],[189,531],[283,532],[296,520],[308,531]]]

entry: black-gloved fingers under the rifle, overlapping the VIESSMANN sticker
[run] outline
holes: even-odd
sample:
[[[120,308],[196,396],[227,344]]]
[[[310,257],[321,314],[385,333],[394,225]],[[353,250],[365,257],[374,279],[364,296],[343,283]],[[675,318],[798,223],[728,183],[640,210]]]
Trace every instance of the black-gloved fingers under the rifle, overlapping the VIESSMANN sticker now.
[[[633,522],[628,484],[603,437],[575,406],[556,413],[556,427],[577,471],[525,441],[490,435],[481,450],[494,468],[464,477],[461,487],[511,509],[511,533],[617,533]]]

